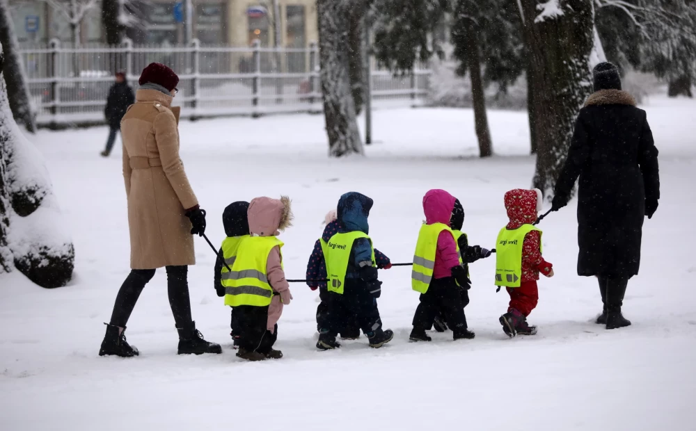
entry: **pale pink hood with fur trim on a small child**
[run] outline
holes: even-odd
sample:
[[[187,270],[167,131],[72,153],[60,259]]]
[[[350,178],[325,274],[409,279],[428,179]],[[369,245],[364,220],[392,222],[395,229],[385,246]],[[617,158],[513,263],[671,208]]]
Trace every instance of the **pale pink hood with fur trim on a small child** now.
[[[255,197],[247,211],[249,231],[252,235],[276,236],[280,231],[292,226],[290,197],[280,200],[271,197]]]

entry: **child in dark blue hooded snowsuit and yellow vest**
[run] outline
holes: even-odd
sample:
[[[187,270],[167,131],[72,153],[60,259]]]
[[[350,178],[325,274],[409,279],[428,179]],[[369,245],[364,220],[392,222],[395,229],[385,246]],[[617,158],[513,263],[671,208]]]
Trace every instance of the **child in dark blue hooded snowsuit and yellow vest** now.
[[[392,330],[382,330],[377,302],[374,300],[381,293],[381,282],[377,277],[377,264],[372,261],[372,243],[365,237],[370,229],[367,216],[371,208],[372,199],[356,192],[346,193],[338,201],[338,234],[329,238],[330,243],[326,248],[329,255],[324,258],[334,263],[346,259],[345,268],[335,268],[337,271],[345,269],[345,277],[342,282],[333,279],[336,284],[332,288],[338,287],[342,293],[328,293],[328,323],[320,330],[317,342],[320,350],[340,347],[336,336],[351,320],[356,320],[372,348],[380,348],[394,338]],[[355,237],[351,242],[348,239],[350,236]],[[335,242],[335,247],[331,247],[331,242]],[[348,256],[345,255],[346,250],[349,250]]]

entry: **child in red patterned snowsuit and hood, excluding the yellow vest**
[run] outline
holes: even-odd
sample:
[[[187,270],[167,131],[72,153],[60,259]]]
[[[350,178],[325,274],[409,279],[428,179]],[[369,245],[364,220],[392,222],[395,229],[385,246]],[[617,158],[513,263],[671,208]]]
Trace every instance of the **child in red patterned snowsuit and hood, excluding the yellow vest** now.
[[[523,225],[532,225],[541,210],[541,191],[515,189],[505,193],[505,209],[509,223],[508,231],[520,229]],[[541,231],[532,230],[524,236],[522,243],[522,271],[519,287],[507,287],[510,295],[507,313],[500,316],[500,324],[508,336],[516,334],[536,334],[536,327],[527,323],[527,316],[537,307],[539,291],[537,280],[539,273],[553,277],[553,265],[541,257]]]

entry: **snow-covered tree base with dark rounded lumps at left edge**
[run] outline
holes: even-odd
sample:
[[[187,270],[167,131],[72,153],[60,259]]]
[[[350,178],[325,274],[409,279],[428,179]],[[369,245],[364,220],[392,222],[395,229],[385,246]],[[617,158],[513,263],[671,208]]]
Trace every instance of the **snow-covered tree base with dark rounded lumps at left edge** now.
[[[4,56],[0,54],[0,71]],[[72,278],[74,247],[41,154],[19,131],[0,72],[0,272],[17,268],[46,288]]]

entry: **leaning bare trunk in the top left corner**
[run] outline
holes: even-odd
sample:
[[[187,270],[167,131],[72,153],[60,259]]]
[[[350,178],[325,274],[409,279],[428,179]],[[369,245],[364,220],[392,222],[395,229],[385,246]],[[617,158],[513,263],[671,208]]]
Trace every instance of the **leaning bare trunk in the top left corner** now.
[[[0,0],[0,44],[2,44],[4,61],[0,72],[5,75],[7,82],[8,99],[10,109],[15,120],[33,133],[36,129],[34,115],[31,112],[31,99],[29,88],[24,81],[22,60],[19,59],[19,44],[17,33],[13,29],[10,17],[10,8],[7,0]]]

